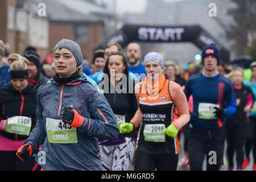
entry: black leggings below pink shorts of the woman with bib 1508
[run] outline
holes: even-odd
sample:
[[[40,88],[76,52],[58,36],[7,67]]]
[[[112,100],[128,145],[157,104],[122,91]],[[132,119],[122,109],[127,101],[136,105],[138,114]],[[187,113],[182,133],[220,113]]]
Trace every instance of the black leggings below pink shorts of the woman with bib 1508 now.
[[[38,171],[40,166],[35,162],[35,158],[31,156],[27,162],[23,162],[16,156],[16,151],[0,151],[0,170],[2,171]]]

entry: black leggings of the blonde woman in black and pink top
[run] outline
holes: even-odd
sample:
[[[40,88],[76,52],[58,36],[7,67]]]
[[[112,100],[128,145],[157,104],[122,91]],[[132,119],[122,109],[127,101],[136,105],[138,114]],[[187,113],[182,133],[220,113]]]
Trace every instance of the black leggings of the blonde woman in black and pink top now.
[[[246,136],[246,124],[246,120],[226,122],[226,139],[228,142],[227,155],[230,167],[234,166],[234,151],[236,151],[237,168],[242,167],[243,143],[245,142]]]

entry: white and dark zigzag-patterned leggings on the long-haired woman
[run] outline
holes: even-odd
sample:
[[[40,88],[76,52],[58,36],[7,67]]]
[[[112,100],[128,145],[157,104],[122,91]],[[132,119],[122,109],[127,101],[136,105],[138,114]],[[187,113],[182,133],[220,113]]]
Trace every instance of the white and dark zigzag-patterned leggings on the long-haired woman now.
[[[133,160],[135,142],[98,146],[98,156],[104,171],[126,171]]]

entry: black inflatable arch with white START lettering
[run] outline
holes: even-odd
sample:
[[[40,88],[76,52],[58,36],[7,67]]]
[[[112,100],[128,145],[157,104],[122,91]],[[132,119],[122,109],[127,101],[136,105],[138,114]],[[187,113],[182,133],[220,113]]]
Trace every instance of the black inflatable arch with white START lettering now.
[[[143,26],[125,24],[120,30],[108,36],[95,49],[104,49],[108,43],[118,43],[125,47],[130,42],[151,42],[151,43],[176,43],[192,42],[200,49],[210,43],[216,44],[220,49],[221,60],[229,62],[229,50],[222,46],[216,39],[199,25],[192,26]]]

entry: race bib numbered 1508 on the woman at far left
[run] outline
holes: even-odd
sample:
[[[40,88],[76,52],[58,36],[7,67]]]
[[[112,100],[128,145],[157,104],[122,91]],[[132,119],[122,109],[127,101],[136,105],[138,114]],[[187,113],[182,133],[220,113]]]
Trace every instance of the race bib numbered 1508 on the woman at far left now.
[[[8,133],[15,133],[19,135],[30,135],[31,118],[26,116],[14,116],[8,118],[8,124],[5,129]]]

